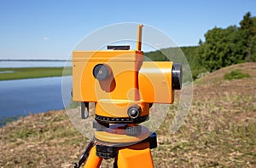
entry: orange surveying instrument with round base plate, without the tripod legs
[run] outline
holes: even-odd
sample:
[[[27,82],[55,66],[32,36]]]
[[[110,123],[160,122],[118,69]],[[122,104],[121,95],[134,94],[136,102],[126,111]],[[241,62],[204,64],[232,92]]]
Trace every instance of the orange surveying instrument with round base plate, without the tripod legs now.
[[[147,138],[149,131],[138,124],[149,119],[153,103],[172,104],[174,90],[182,87],[181,64],[144,61],[142,28],[138,26],[135,50],[122,45],[73,51],[73,101],[81,102],[84,119],[88,117],[89,102],[95,102],[95,137],[102,142]],[[132,127],[137,129],[127,129]],[[111,131],[100,131],[106,128]]]

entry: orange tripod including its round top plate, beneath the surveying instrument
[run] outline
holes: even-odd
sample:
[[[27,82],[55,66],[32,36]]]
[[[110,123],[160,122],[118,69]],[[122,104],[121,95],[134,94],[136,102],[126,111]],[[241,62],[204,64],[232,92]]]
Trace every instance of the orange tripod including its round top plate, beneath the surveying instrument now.
[[[90,140],[79,164],[74,164],[74,168],[83,164],[84,168],[98,168],[102,159],[110,158],[114,158],[113,168],[154,167],[150,149],[157,147],[155,132],[149,132],[141,125],[105,127],[95,122],[93,126],[96,128],[96,135]]]

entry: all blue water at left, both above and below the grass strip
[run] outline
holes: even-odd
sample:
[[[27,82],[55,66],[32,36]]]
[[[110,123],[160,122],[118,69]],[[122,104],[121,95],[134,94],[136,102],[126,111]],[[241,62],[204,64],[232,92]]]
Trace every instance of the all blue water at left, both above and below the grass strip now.
[[[12,61],[7,61],[10,65],[5,66],[1,62],[0,67],[14,67]],[[19,61],[15,61],[15,64],[15,67],[63,67],[66,62],[20,61],[19,64]],[[64,109],[71,101],[72,77],[65,77],[63,94],[61,81],[62,77],[0,81],[0,121],[30,113]]]

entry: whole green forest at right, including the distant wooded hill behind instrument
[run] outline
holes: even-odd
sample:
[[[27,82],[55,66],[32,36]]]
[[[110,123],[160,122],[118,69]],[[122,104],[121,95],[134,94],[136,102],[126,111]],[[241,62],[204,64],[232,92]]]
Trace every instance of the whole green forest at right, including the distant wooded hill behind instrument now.
[[[256,61],[256,17],[250,12],[243,16],[239,26],[215,26],[204,37],[205,40],[200,39],[198,46],[179,48],[189,62],[194,79],[204,72],[213,72],[221,67]],[[160,49],[145,53],[145,56],[152,61],[169,61],[166,55],[175,55],[177,49]]]

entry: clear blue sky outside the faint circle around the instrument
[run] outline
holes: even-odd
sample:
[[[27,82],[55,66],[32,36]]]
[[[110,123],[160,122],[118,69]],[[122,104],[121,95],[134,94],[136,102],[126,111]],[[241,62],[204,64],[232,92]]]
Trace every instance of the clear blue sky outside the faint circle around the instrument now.
[[[65,60],[90,32],[122,22],[194,46],[214,26],[239,26],[248,11],[256,16],[255,0],[0,0],[0,60]]]

